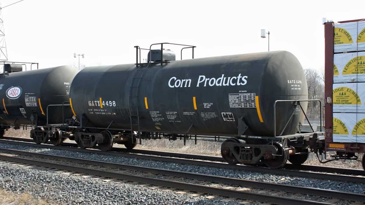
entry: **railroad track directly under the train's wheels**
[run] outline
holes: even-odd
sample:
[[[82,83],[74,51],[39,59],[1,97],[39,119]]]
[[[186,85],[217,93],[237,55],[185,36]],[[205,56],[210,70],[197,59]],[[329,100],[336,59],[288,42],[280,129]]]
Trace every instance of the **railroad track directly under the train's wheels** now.
[[[332,180],[332,181],[344,181],[344,182],[354,182],[354,183],[365,183],[365,177],[358,176],[354,174],[364,174],[363,170],[354,170],[353,175],[342,175],[342,174],[333,174],[338,173],[338,170],[345,170],[343,168],[336,168],[336,167],[329,167],[328,170],[332,170],[333,173],[317,173],[317,172],[308,172],[302,170],[289,170],[289,169],[269,169],[266,167],[254,167],[254,166],[245,166],[245,165],[229,165],[225,162],[213,162],[213,161],[202,161],[196,159],[185,159],[185,158],[171,158],[166,156],[159,156],[159,155],[147,155],[141,153],[126,153],[126,149],[123,148],[114,148],[112,151],[100,151],[100,150],[92,150],[92,149],[80,149],[76,147],[69,147],[68,145],[74,145],[72,143],[67,143],[65,146],[53,146],[53,145],[46,145],[46,144],[35,144],[35,143],[27,143],[31,142],[31,139],[26,138],[9,138],[6,137],[4,139],[7,140],[0,140],[0,143],[9,143],[9,144],[20,144],[24,146],[32,146],[32,147],[41,147],[41,148],[50,148],[50,149],[57,149],[57,150],[65,150],[65,151],[78,151],[78,152],[85,152],[85,153],[92,153],[92,154],[103,154],[103,155],[110,155],[110,156],[120,156],[120,157],[127,157],[127,158],[138,158],[138,159],[148,159],[148,160],[157,160],[157,161],[164,161],[164,162],[172,162],[172,163],[181,163],[181,164],[189,164],[189,165],[197,165],[197,166],[209,166],[215,167],[220,169],[236,169],[242,171],[254,171],[254,172],[262,172],[262,173],[269,173],[269,174],[277,174],[277,175],[291,175],[297,177],[307,177],[307,178],[316,178],[316,179],[324,179],[324,180]],[[9,140],[18,140],[18,139],[25,139],[23,141],[26,142],[14,142]],[[120,152],[119,150],[122,150]],[[123,152],[124,151],[124,152]],[[142,150],[143,151],[143,150]],[[137,150],[138,152],[138,150]],[[150,152],[147,152],[150,154]],[[158,151],[153,151],[153,153],[160,153]],[[170,154],[171,152],[164,152],[166,154]],[[173,153],[180,154],[180,153]],[[180,157],[185,156],[184,154],[180,154]],[[187,154],[191,156],[191,154]],[[196,156],[204,156],[204,155],[196,155]],[[209,156],[215,157],[215,156]],[[189,157],[187,157],[189,158]],[[216,157],[215,157],[216,158]],[[310,166],[314,167],[314,166]],[[322,166],[321,166],[322,167]],[[351,170],[351,169],[350,169]],[[361,171],[361,172],[360,172]],[[343,171],[348,173],[348,171]]]

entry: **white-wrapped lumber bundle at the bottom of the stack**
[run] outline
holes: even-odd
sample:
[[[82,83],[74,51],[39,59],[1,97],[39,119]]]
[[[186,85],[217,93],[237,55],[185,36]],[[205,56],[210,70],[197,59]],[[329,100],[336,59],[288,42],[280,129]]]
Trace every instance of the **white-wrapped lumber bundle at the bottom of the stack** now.
[[[365,113],[333,113],[333,142],[365,143]]]

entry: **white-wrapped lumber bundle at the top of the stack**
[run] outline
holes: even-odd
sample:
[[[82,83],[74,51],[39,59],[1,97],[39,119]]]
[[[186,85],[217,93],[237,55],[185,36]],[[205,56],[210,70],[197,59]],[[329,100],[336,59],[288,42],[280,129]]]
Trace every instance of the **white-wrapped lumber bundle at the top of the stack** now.
[[[335,24],[334,52],[364,51],[365,22]]]

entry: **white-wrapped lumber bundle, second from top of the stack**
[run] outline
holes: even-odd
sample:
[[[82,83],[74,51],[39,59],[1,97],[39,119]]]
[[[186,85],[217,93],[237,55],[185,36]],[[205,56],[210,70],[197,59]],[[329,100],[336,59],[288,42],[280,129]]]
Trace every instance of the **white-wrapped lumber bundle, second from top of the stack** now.
[[[335,54],[333,82],[365,82],[365,52]]]

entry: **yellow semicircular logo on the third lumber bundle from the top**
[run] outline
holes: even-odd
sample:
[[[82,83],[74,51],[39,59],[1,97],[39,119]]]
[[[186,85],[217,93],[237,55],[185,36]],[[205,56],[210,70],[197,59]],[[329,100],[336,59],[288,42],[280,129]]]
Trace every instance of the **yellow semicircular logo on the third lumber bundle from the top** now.
[[[333,89],[334,105],[361,105],[358,94],[351,88],[339,87]]]

